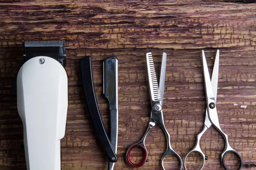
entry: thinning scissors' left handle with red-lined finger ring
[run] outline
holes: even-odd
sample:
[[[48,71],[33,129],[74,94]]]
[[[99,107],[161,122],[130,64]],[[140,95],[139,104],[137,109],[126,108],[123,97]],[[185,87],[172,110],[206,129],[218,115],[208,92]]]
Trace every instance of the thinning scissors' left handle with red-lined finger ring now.
[[[156,122],[154,121],[152,113],[151,113],[150,121],[148,123],[148,128],[147,128],[143,138],[140,140],[140,142],[131,145],[128,148],[127,152],[126,152],[126,161],[130,166],[132,166],[132,167],[141,167],[148,160],[148,151],[147,151],[146,146],[145,146],[145,139],[148,135],[148,132],[151,130],[152,127],[154,127],[154,125],[156,125]],[[130,159],[131,150],[133,150],[135,147],[140,147],[143,150],[143,153],[144,153],[143,159],[138,164],[133,163]]]

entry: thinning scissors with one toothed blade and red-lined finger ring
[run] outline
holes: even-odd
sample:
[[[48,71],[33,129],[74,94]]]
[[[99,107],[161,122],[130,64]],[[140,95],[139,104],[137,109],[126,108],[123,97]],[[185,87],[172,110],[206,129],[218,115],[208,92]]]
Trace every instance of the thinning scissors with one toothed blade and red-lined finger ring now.
[[[147,60],[147,68],[148,68],[148,81],[149,81],[150,94],[151,94],[151,116],[150,116],[148,128],[143,138],[141,139],[141,141],[131,145],[131,147],[128,148],[128,151],[126,153],[126,161],[132,167],[140,167],[143,164],[145,164],[146,161],[148,161],[147,159],[148,151],[145,146],[145,138],[148,135],[148,132],[151,130],[151,128],[154,127],[154,125],[158,124],[163,129],[166,136],[166,140],[167,140],[167,148],[161,160],[162,169],[165,170],[163,166],[163,159],[169,154],[174,154],[175,156],[178,157],[180,161],[180,170],[181,170],[182,159],[172,149],[170,134],[168,133],[163,120],[162,105],[163,105],[163,90],[164,90],[165,73],[166,73],[166,53],[163,53],[159,88],[158,88],[157,77],[156,77],[154,62],[153,62],[151,53],[146,54],[146,60]],[[133,162],[131,162],[131,159],[130,159],[130,153],[131,153],[131,150],[134,149],[134,147],[140,147],[144,153],[143,160],[138,164],[134,164]]]

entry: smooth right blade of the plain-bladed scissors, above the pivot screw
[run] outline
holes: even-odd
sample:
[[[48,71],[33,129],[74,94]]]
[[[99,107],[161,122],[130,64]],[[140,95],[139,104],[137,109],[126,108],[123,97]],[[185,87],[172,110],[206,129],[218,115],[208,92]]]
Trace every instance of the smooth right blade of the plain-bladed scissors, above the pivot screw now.
[[[212,90],[213,90],[215,102],[217,102],[219,56],[220,56],[220,51],[217,50],[213,71],[212,71]]]

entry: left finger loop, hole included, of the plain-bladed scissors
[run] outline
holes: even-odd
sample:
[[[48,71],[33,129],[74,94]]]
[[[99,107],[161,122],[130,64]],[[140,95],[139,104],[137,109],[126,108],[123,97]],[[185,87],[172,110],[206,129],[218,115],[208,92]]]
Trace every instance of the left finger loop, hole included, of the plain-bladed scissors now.
[[[186,169],[188,170],[200,170],[203,164],[203,156],[201,153],[194,151],[190,153],[186,158]]]

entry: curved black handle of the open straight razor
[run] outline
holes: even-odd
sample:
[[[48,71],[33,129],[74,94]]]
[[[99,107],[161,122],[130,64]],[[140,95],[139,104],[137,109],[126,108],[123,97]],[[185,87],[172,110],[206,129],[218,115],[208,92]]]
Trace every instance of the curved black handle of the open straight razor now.
[[[94,92],[93,72],[90,56],[84,57],[80,60],[80,70],[84,88],[84,96],[87,102],[87,108],[89,110],[93,126],[96,130],[96,134],[103,146],[103,149],[107,153],[109,161],[116,162],[117,156],[115,150],[113,149],[113,146],[110,140],[108,139],[107,133],[102,122],[102,118],[99,113],[99,108]]]

